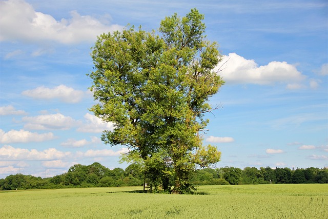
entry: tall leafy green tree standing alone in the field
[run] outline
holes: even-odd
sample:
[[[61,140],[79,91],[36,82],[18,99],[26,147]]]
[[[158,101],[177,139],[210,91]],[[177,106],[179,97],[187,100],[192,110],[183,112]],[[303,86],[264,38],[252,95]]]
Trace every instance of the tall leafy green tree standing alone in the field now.
[[[126,160],[141,162],[150,184],[170,190],[173,182],[176,193],[192,191],[195,164],[220,160],[216,147],[202,146],[198,135],[209,122],[209,97],[224,84],[212,70],[221,56],[203,35],[203,18],[192,9],[163,19],[158,32],[128,26],[104,33],[91,54],[90,90],[98,101],[91,111],[114,124],[102,140],[129,147]]]

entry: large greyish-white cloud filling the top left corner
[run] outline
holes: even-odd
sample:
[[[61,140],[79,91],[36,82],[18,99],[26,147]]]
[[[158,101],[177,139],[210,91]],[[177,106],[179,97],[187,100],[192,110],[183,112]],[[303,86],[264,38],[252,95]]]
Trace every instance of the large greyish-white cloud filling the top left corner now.
[[[119,25],[107,25],[89,15],[71,11],[69,19],[57,21],[49,14],[36,12],[25,1],[0,2],[0,40],[39,43],[55,41],[63,44],[94,42],[104,32],[121,30]]]

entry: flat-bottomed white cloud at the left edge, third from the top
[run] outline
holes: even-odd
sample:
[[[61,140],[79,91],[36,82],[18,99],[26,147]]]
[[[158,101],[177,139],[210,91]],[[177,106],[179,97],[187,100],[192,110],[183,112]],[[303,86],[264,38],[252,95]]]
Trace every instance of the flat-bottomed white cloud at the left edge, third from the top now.
[[[29,132],[23,129],[10,130],[5,132],[0,129],[0,143],[27,143],[27,142],[44,142],[55,138],[52,132],[39,134],[37,132]]]

